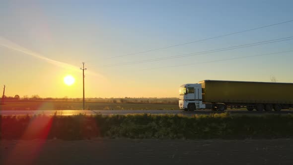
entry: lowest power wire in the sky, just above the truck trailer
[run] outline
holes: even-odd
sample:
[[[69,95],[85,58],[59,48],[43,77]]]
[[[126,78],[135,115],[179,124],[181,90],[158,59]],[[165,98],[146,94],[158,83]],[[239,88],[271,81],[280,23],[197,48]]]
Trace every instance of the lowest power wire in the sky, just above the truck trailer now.
[[[259,57],[259,56],[268,56],[268,55],[275,55],[275,54],[288,53],[288,52],[293,52],[293,50],[290,50],[290,51],[284,51],[284,52],[275,52],[275,53],[261,54],[261,55],[243,56],[243,57],[235,57],[235,58],[228,58],[228,59],[221,59],[221,60],[213,60],[213,61],[206,61],[206,62],[192,63],[192,64],[182,64],[182,65],[173,65],[173,66],[158,67],[158,68],[149,68],[149,69],[142,69],[142,70],[140,70],[140,71],[145,71],[145,70],[156,70],[156,69],[163,69],[163,68],[183,67],[183,66],[189,66],[189,65],[195,65],[195,64],[214,63],[214,62],[220,62],[220,61],[228,61],[228,60],[236,60],[236,59],[252,58],[252,57]]]

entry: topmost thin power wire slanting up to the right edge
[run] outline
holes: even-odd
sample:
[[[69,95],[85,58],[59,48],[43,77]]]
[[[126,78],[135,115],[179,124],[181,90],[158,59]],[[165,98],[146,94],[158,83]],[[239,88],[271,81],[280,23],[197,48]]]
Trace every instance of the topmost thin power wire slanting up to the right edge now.
[[[285,21],[285,22],[274,23],[274,24],[270,24],[270,25],[266,25],[266,26],[261,26],[261,27],[256,27],[256,28],[247,29],[247,30],[243,30],[243,31],[223,34],[223,35],[210,37],[210,38],[205,38],[205,39],[200,39],[200,40],[196,40],[196,41],[190,41],[190,42],[185,42],[185,43],[181,43],[181,44],[175,44],[175,45],[170,45],[170,46],[166,46],[166,47],[161,47],[161,48],[149,49],[149,50],[141,51],[141,52],[129,53],[129,54],[120,55],[120,56],[114,56],[114,57],[110,57],[108,59],[119,58],[119,57],[130,56],[130,55],[136,55],[136,54],[142,54],[142,53],[147,53],[147,52],[151,52],[151,51],[162,50],[162,49],[172,48],[172,47],[176,47],[176,46],[181,46],[181,45],[186,45],[186,44],[191,44],[191,43],[211,40],[211,39],[220,38],[220,37],[224,37],[224,36],[229,36],[229,35],[233,35],[233,34],[239,34],[239,33],[244,33],[244,32],[247,32],[247,31],[252,31],[252,30],[257,30],[257,29],[266,28],[266,27],[270,27],[270,26],[276,26],[276,25],[280,25],[280,24],[284,24],[284,23],[289,23],[289,22],[292,22],[292,21],[293,20],[289,20],[289,21]]]

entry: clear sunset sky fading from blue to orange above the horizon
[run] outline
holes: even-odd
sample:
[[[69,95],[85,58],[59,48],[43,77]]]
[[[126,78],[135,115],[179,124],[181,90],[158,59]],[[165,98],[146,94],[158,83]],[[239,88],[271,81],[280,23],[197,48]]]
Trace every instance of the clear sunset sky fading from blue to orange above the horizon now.
[[[293,51],[292,38],[206,52],[293,37],[292,6],[292,0],[0,0],[0,84],[6,96],[82,97],[82,62],[85,97],[178,97],[181,84],[202,80],[274,76],[293,83],[293,52],[286,52]],[[222,37],[203,40],[216,36]],[[197,52],[206,53],[178,57]],[[271,54],[277,52],[285,53]],[[63,82],[67,75],[75,79],[71,86]]]

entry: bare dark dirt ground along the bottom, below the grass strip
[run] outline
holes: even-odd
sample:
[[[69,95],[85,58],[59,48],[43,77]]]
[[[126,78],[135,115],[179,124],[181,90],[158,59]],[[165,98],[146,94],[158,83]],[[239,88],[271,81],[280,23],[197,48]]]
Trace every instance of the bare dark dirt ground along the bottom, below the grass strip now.
[[[293,139],[0,141],[11,165],[279,165],[293,163]]]

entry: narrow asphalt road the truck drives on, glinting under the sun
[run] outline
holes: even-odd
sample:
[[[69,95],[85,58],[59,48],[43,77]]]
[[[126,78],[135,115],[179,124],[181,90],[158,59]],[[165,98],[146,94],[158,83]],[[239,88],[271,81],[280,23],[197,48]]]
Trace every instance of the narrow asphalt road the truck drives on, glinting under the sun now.
[[[262,115],[262,114],[292,114],[293,110],[282,110],[279,112],[258,112],[258,111],[247,111],[247,110],[227,110],[230,114],[247,114],[247,115]],[[1,115],[34,115],[34,114],[45,114],[45,115],[77,115],[77,114],[86,114],[86,115],[128,115],[128,114],[181,114],[186,116],[192,116],[195,114],[211,114],[211,113],[223,113],[215,112],[212,110],[196,110],[193,112],[182,111],[182,110],[1,110]]]

